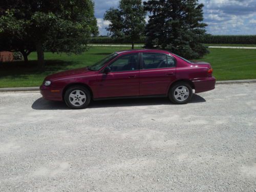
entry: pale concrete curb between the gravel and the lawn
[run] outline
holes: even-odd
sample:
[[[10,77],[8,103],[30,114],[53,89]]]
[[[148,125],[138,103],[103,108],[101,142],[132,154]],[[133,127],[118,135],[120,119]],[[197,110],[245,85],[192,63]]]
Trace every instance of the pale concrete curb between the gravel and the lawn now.
[[[256,82],[256,79],[216,81],[216,84],[250,83],[250,82]],[[28,88],[0,88],[0,92],[3,92],[3,91],[39,91],[39,87],[28,87]]]

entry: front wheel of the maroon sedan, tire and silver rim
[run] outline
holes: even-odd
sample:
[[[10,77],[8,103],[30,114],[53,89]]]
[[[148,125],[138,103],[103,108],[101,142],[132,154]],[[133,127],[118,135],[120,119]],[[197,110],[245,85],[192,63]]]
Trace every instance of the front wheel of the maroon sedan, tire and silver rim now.
[[[65,92],[64,100],[71,109],[84,109],[91,102],[91,94],[87,88],[73,86]]]

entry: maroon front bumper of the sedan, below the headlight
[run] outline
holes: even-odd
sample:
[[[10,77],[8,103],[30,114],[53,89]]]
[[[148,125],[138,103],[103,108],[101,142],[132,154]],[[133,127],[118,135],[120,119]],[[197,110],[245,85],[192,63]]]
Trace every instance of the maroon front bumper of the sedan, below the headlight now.
[[[62,90],[42,85],[40,87],[42,98],[52,101],[62,101]]]

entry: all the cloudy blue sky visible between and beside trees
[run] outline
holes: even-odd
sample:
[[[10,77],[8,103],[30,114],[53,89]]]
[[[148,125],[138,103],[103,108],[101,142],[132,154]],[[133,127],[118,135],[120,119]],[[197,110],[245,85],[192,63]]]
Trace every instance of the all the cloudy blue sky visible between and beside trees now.
[[[106,10],[118,7],[119,0],[94,0],[95,17],[100,35],[106,35],[109,22],[103,20]],[[255,35],[256,0],[199,0],[204,4],[204,23],[212,35]]]

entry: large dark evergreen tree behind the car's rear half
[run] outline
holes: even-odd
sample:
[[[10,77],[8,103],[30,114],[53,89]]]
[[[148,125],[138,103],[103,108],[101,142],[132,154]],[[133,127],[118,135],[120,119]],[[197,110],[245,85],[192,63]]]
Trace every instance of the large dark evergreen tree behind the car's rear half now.
[[[206,35],[203,4],[198,0],[150,0],[144,2],[150,12],[146,25],[146,48],[172,51],[186,58],[198,58],[208,53],[199,43]]]

